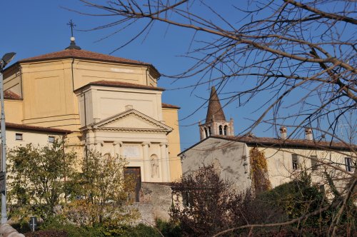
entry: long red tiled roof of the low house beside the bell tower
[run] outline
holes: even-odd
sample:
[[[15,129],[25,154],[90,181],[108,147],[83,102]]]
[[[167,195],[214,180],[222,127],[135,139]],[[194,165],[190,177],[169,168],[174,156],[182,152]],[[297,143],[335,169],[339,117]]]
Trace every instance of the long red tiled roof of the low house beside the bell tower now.
[[[267,138],[256,136],[211,136],[212,138],[223,138],[230,141],[238,141],[253,145],[263,146],[279,146],[279,147],[300,147],[300,148],[331,148],[331,149],[351,149],[356,145],[348,146],[341,142],[330,141],[308,141],[303,139],[280,139],[280,138]],[[357,148],[357,147],[356,147]]]

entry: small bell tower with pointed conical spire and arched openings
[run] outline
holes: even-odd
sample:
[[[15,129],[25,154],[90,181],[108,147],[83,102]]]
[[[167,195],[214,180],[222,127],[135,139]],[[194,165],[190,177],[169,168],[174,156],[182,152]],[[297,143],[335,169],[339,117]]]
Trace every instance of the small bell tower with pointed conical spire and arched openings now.
[[[206,123],[198,124],[200,138],[203,140],[208,136],[233,136],[233,119],[226,121],[221,102],[218,99],[214,86],[211,88],[211,95],[208,101]]]

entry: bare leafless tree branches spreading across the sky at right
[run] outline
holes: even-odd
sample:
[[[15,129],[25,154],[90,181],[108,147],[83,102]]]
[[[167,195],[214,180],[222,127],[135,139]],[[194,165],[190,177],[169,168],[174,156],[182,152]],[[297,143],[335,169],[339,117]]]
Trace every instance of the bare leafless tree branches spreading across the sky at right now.
[[[115,16],[95,29],[116,33],[145,23],[117,49],[149,34],[156,22],[192,31],[185,56],[195,63],[165,76],[195,78],[192,88],[213,84],[218,91],[229,90],[226,104],[243,106],[263,98],[247,133],[263,122],[291,126],[293,134],[311,126],[331,139],[338,138],[341,123],[356,132],[356,1],[250,0],[244,9],[240,1],[223,1],[223,12],[202,0],[80,1],[93,9],[81,14]],[[244,83],[243,89],[232,89],[233,81]],[[288,114],[282,108],[291,110]],[[351,150],[356,159],[355,146]],[[352,173],[349,192],[338,205],[351,198],[356,178]]]

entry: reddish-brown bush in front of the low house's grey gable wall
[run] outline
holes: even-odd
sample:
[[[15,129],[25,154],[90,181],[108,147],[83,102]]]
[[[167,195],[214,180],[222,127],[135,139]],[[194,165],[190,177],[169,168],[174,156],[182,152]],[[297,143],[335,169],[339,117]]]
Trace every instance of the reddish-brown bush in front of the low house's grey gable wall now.
[[[228,222],[223,220],[230,218],[228,203],[233,198],[228,192],[230,188],[213,166],[203,166],[195,173],[183,176],[174,188],[176,200],[172,220],[181,224],[187,236],[211,235],[226,228]]]

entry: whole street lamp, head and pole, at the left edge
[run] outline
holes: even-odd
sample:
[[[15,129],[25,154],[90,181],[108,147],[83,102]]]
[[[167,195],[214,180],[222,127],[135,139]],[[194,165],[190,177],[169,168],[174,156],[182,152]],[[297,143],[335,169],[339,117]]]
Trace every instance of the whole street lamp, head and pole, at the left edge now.
[[[6,127],[5,127],[5,110],[4,110],[4,78],[3,71],[9,62],[14,59],[16,53],[11,52],[4,54],[0,61],[0,100],[1,100],[1,173],[0,173],[0,191],[1,191],[1,224],[7,222],[6,215]]]

